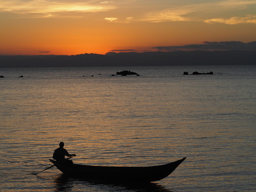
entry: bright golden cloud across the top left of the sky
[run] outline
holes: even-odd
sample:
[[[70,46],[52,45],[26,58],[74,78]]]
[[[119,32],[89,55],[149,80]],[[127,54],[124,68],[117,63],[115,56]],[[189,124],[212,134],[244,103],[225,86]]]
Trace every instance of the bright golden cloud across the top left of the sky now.
[[[110,11],[115,7],[111,2],[99,1],[22,1],[22,0],[0,0],[0,12],[12,12],[17,14],[35,15],[37,17],[57,17],[67,13],[85,13]],[[68,15],[69,17],[72,17]],[[31,16],[32,17],[32,16]]]

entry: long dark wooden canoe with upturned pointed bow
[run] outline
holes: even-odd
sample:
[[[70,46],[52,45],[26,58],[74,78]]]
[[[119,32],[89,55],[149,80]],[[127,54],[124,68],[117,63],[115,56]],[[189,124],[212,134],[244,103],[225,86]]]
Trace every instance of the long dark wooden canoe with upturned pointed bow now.
[[[49,159],[62,173],[88,180],[113,182],[151,182],[166,178],[184,160],[157,166],[93,166],[93,165],[61,165]]]

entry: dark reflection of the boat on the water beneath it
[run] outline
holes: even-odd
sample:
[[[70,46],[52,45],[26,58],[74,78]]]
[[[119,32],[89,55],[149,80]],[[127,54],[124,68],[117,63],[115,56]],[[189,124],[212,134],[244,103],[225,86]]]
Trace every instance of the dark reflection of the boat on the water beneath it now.
[[[80,185],[78,187],[77,185]],[[171,192],[164,186],[156,183],[103,183],[98,181],[88,181],[83,179],[74,179],[68,175],[60,174],[56,176],[56,191],[76,191],[72,188],[81,188],[83,191],[147,191],[147,192]]]

